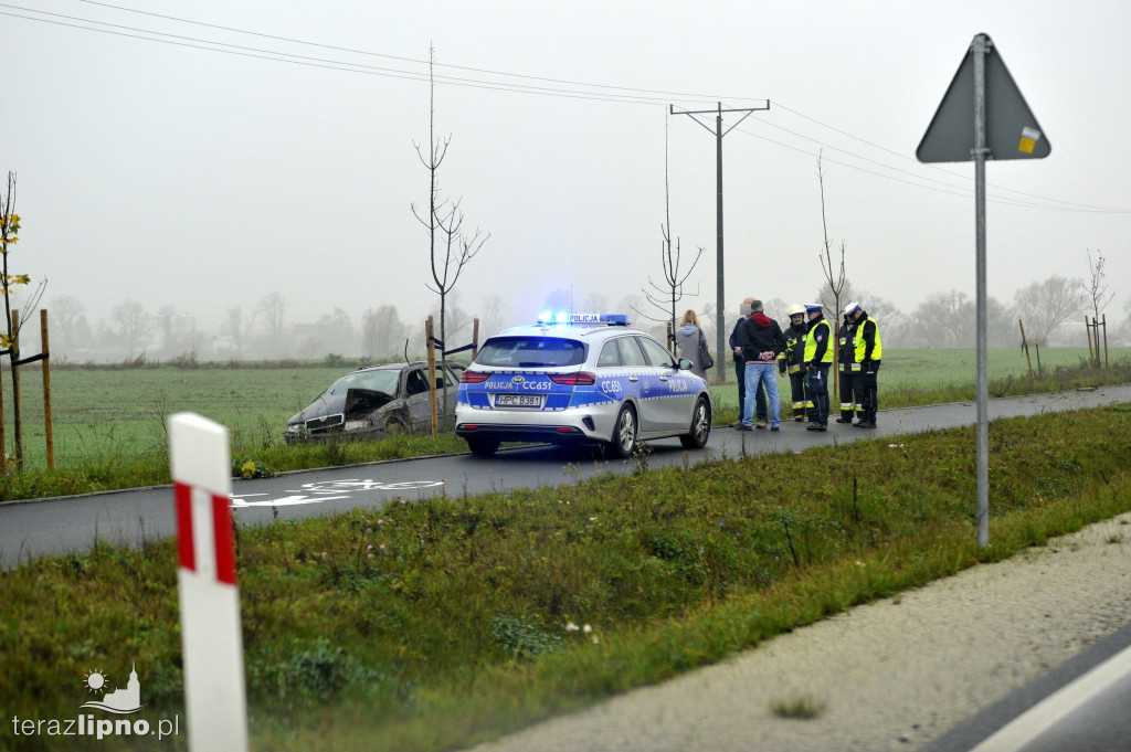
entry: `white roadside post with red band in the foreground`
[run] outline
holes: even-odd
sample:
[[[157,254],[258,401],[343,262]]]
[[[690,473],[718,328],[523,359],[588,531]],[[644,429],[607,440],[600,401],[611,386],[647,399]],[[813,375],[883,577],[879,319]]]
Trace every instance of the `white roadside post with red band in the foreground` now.
[[[240,590],[232,539],[227,429],[195,413],[169,418],[176,502],[184,712],[193,752],[247,752]]]

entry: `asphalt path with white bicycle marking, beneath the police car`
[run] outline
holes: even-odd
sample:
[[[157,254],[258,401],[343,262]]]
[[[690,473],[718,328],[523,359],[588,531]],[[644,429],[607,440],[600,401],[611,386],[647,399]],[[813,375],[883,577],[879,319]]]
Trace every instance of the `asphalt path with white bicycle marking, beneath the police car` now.
[[[1090,391],[994,399],[991,418],[1095,407],[1131,401],[1131,384]],[[976,421],[974,403],[955,403],[880,413],[880,429],[862,431],[830,424],[827,433],[786,422],[779,433],[740,433],[716,429],[702,451],[685,452],[677,440],[657,441],[648,463],[654,467],[736,457],[743,452],[802,451],[877,436],[893,436]],[[555,447],[524,447],[492,459],[456,455],[291,473],[275,478],[235,481],[233,508],[241,524],[269,524],[357,507],[381,507],[394,499],[449,498],[492,491],[560,486],[599,474],[629,474],[636,460],[606,461],[593,452]],[[29,557],[83,551],[95,539],[137,545],[175,533],[167,486],[0,504],[0,568]]]

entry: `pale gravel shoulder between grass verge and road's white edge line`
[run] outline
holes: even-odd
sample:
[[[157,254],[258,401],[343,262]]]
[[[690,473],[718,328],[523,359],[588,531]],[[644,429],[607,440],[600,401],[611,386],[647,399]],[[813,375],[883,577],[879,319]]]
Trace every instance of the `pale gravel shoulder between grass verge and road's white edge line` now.
[[[1125,513],[474,750],[910,752],[1129,622]]]

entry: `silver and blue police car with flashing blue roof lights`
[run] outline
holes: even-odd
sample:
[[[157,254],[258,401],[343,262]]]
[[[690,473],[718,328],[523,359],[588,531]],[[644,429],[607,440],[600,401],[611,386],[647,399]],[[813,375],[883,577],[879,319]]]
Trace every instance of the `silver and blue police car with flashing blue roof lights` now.
[[[543,316],[483,343],[459,378],[456,433],[480,456],[502,441],[604,444],[629,457],[641,440],[679,436],[701,449],[711,401],[690,368],[627,316]]]

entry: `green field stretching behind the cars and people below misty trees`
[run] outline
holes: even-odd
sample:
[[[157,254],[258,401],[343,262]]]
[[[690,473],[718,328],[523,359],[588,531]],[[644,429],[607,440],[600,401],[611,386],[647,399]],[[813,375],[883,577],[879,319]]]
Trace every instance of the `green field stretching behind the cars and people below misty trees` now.
[[[1076,366],[1087,354],[1086,348],[1045,349],[1041,362],[1047,372],[1056,366]],[[1111,357],[1126,361],[1131,348],[1113,348]],[[232,432],[233,456],[277,444],[286,420],[351,368],[219,364],[195,369],[55,369],[51,372],[51,392],[57,467],[159,453],[166,441],[164,418],[179,410],[193,410],[226,425]],[[975,368],[972,349],[888,351],[880,371],[880,407],[968,399],[953,391],[931,392],[960,386],[973,389]],[[1037,368],[1035,356],[1033,368]],[[35,365],[25,366],[20,374],[25,467],[42,468],[43,379]],[[1027,380],[1025,354],[1019,349],[991,351],[990,374],[992,379]],[[6,449],[11,456],[11,378],[7,371],[2,377]],[[788,391],[784,380],[779,384]],[[736,408],[734,383],[713,387],[711,391],[719,410]]]

